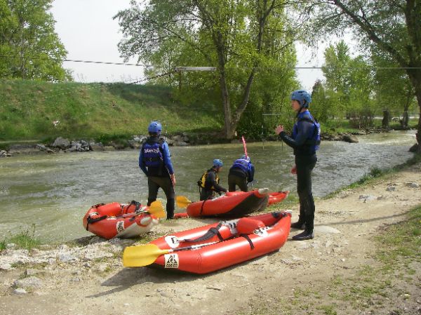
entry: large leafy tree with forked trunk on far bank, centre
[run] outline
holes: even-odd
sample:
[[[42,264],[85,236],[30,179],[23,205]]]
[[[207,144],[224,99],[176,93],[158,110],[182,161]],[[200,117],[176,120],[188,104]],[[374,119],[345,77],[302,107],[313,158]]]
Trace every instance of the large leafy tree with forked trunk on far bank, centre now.
[[[115,17],[124,34],[119,49],[125,58],[137,55],[150,62],[154,71],[171,72],[177,65],[216,66],[216,75],[183,75],[182,83],[210,87],[218,82],[224,135],[231,139],[256,76],[265,69],[283,72],[285,62],[293,76],[290,65],[295,64],[295,54],[286,51],[293,50],[294,31],[286,4],[285,0],[152,0],[141,8],[132,1],[131,8]]]

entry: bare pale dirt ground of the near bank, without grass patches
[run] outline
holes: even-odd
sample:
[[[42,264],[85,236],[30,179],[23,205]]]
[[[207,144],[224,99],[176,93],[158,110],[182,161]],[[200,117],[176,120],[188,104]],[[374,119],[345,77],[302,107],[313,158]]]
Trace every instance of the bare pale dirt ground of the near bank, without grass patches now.
[[[410,187],[410,182],[418,187]],[[372,255],[373,236],[421,204],[420,187],[418,164],[366,187],[342,191],[333,199],[316,200],[313,240],[291,241],[299,233],[293,229],[278,252],[205,276],[123,268],[121,255],[89,264],[0,270],[0,314],[421,314],[417,263],[412,284],[395,283],[393,300],[386,297],[374,308],[339,301],[335,309],[323,307],[334,300],[335,292],[329,288],[335,279],[347,279],[361,266],[378,264]],[[284,209],[281,204],[273,210]],[[295,221],[298,210],[292,210]],[[169,234],[214,221],[175,220],[154,230]],[[38,270],[41,283],[18,294],[13,283],[25,277],[27,268]],[[317,299],[310,291],[318,293]]]

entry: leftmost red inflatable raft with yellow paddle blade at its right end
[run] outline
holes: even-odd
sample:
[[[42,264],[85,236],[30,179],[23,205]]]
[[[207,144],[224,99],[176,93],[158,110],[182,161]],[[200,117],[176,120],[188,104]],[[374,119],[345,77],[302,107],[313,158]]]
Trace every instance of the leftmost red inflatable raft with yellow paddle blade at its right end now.
[[[165,212],[159,201],[152,203],[150,208],[136,201],[99,203],[92,206],[83,217],[83,227],[104,239],[131,238],[149,232],[158,224],[157,218],[163,216]]]

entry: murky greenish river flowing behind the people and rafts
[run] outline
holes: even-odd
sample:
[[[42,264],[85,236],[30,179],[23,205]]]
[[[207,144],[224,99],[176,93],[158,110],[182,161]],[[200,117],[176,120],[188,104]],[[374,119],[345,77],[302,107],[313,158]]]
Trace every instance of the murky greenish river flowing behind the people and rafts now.
[[[321,145],[313,173],[313,192],[324,196],[358,180],[371,168],[389,168],[409,159],[415,132],[359,136],[359,143]],[[199,199],[197,180],[213,159],[222,159],[222,186],[229,166],[243,154],[241,144],[171,147],[175,193]],[[247,145],[255,165],[255,187],[295,191],[292,150],[281,142]],[[165,201],[160,191],[159,197]],[[44,241],[90,235],[82,217],[96,203],[131,200],[146,203],[147,180],[138,167],[138,151],[86,152],[13,156],[0,159],[0,240],[32,227]],[[164,202],[165,203],[165,202]],[[176,209],[176,212],[182,212]]]

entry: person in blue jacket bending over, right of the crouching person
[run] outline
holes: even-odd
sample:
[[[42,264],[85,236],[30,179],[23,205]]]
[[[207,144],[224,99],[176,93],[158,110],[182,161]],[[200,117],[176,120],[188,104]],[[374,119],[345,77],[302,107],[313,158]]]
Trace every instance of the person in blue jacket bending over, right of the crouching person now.
[[[235,192],[236,186],[241,192],[247,192],[247,184],[253,182],[254,166],[250,161],[250,156],[243,155],[240,159],[234,161],[228,173],[228,190]]]

